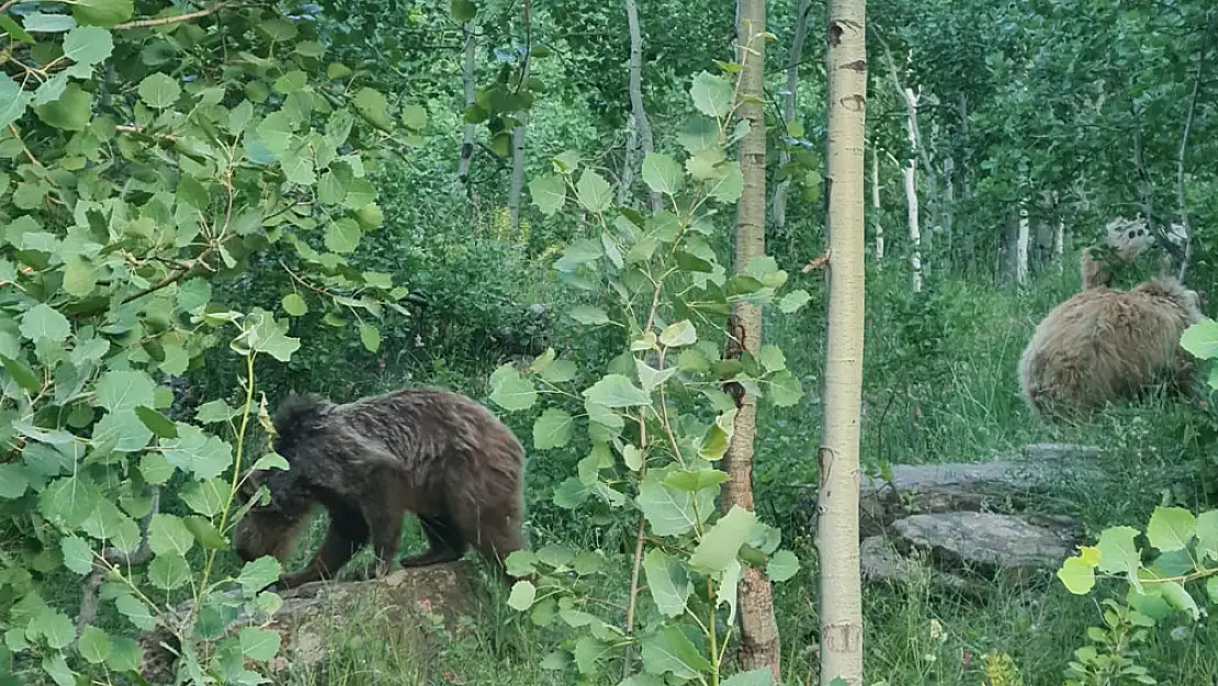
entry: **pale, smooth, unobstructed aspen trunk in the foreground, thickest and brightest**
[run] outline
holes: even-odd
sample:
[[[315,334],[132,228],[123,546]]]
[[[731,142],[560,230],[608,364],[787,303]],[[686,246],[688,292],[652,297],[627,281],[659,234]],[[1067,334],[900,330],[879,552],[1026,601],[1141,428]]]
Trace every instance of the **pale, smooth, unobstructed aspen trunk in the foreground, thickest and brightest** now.
[[[859,414],[864,350],[865,0],[829,0],[828,331],[816,550],[821,563],[821,686],[862,685],[859,574]],[[912,172],[912,164],[910,167]],[[906,177],[906,183],[912,175]]]

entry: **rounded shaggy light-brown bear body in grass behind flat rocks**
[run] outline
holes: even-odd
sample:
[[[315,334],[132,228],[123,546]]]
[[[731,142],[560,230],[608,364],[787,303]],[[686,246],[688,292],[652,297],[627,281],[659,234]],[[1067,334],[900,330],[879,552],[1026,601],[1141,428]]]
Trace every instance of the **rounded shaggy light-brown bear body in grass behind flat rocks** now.
[[[1128,291],[1093,288],[1055,307],[1019,359],[1019,387],[1041,415],[1071,417],[1133,398],[1158,381],[1188,392],[1194,358],[1180,335],[1201,300],[1170,278]]]

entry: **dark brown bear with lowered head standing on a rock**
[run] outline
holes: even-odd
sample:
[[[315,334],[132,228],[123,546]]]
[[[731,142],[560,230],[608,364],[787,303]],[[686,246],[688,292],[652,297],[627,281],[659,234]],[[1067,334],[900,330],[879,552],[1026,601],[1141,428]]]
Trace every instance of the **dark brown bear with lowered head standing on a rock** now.
[[[456,560],[473,546],[512,581],[503,559],[524,547],[524,448],[487,408],[440,389],[346,405],[307,395],[289,397],[274,424],[275,452],[291,469],[256,472],[242,484],[242,502],[262,484],[270,502],[236,526],[238,556],[283,563],[313,509],[330,513],[320,550],[280,578],[280,590],[333,579],[368,541],[376,562],[364,576],[386,574],[407,512],[419,517],[430,547],[402,567]]]

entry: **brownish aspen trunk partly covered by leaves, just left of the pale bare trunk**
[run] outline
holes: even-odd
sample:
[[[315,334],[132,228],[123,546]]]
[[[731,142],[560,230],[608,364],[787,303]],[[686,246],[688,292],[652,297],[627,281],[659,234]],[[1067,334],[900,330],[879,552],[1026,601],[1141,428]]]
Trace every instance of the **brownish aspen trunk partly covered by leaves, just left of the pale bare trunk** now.
[[[741,141],[743,193],[736,217],[734,269],[743,273],[748,263],[765,255],[765,118],[760,102],[765,94],[765,0],[739,2],[738,51],[743,68],[738,76],[737,93],[758,104],[741,106],[741,117],[749,123],[749,133]],[[744,50],[743,46],[748,46]],[[743,301],[732,307],[728,329],[730,346],[756,356],[761,350],[761,308]],[[737,352],[738,355],[738,352]],[[734,431],[723,456],[728,474],[723,485],[722,507],[732,506],[754,511],[753,506],[753,439],[756,434],[756,397],[739,397]],[[781,643],[778,624],[773,618],[773,597],[770,580],[749,565],[741,579],[738,607],[741,617],[741,667],[745,670],[769,669],[776,684],[781,682]]]

